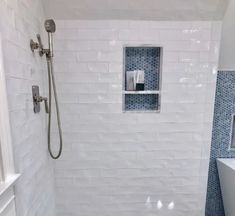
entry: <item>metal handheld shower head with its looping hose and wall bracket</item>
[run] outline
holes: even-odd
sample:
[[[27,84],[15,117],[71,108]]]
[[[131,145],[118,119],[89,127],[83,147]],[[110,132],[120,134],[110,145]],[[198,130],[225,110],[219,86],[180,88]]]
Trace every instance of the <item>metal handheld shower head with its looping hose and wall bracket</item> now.
[[[45,29],[48,32],[48,44],[49,48],[44,49],[40,35],[37,35],[38,43],[34,42],[33,40],[30,41],[30,47],[31,50],[34,52],[34,50],[39,49],[39,55],[43,56],[46,55],[47,59],[47,68],[48,68],[48,89],[49,89],[49,109],[48,109],[48,151],[50,153],[50,156],[53,159],[58,159],[61,156],[62,148],[63,148],[63,139],[62,139],[62,129],[61,129],[61,121],[60,121],[60,112],[59,112],[59,105],[58,105],[58,99],[57,99],[57,92],[56,92],[56,84],[55,84],[55,77],[54,77],[54,69],[53,69],[53,56],[54,56],[54,50],[53,50],[53,33],[56,31],[56,25],[54,20],[48,19],[44,23]],[[55,99],[55,108],[56,108],[56,117],[57,117],[57,125],[58,125],[58,131],[59,131],[59,151],[56,155],[52,153],[51,148],[51,104],[52,104],[52,89],[54,92],[54,99]]]

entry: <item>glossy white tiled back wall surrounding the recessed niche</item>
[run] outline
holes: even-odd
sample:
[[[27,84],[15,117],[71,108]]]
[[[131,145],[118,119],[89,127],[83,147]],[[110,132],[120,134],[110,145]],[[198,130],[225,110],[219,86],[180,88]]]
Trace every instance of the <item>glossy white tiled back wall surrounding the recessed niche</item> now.
[[[221,23],[56,22],[57,215],[203,215]],[[159,114],[122,112],[123,46],[138,44],[163,46]]]

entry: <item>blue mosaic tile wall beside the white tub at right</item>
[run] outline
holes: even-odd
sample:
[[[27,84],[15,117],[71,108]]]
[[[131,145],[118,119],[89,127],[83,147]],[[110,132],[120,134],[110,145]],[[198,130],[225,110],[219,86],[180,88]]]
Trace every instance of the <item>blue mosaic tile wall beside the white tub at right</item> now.
[[[206,216],[224,216],[216,158],[232,158],[228,151],[232,114],[235,114],[235,71],[219,71],[217,76],[211,155],[207,185]]]

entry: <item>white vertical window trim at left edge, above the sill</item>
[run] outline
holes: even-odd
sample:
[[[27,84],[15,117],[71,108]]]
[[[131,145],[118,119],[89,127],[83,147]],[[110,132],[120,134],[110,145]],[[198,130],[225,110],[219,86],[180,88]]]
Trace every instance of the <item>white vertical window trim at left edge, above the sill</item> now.
[[[6,78],[4,71],[4,55],[2,37],[0,35],[0,172],[2,181],[14,175],[12,140],[9,121]]]

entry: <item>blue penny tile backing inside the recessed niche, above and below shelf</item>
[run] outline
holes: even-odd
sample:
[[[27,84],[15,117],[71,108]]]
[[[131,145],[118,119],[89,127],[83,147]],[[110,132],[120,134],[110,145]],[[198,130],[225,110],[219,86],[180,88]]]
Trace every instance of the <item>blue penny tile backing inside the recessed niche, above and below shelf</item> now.
[[[144,90],[158,91],[160,88],[161,47],[125,47],[126,71],[144,71]],[[126,82],[125,82],[126,90]],[[158,110],[158,94],[125,94],[126,111]]]

